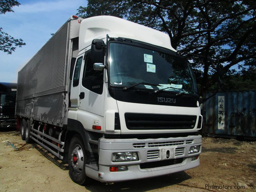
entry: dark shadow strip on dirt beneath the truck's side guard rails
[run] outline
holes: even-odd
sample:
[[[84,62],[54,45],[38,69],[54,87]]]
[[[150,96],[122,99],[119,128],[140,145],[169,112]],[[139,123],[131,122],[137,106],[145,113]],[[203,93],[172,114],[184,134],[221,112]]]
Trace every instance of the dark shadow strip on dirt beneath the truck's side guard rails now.
[[[58,157],[52,155],[51,152],[47,151],[46,149],[42,148],[41,146],[39,146],[36,143],[33,143],[33,147],[36,148],[49,161],[54,163],[56,166],[60,167],[60,169],[68,170],[68,164],[63,164],[62,160],[60,160]]]

